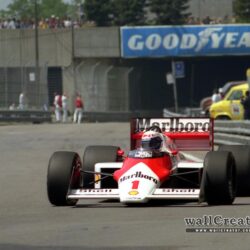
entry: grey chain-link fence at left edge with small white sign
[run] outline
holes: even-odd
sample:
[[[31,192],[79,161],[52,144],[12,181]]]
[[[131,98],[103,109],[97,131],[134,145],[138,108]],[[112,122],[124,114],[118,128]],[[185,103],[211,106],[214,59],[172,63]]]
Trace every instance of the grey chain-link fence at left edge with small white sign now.
[[[18,109],[21,93],[25,109],[48,107],[47,66],[0,68],[0,108]]]

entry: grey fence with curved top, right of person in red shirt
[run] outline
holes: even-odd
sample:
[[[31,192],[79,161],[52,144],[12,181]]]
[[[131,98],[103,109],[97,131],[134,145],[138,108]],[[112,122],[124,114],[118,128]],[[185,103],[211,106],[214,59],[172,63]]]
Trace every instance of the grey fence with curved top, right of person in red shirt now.
[[[128,111],[129,73],[133,68],[105,61],[83,61],[75,70],[75,92],[83,96],[86,111]]]

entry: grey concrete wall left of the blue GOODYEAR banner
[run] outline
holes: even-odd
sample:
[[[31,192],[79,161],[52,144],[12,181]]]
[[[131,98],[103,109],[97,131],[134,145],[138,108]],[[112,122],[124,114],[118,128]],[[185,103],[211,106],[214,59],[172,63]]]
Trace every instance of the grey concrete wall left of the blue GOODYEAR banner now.
[[[72,50],[74,58],[120,57],[118,27],[39,30],[38,41],[40,66],[69,66]],[[0,31],[0,67],[34,66],[35,53],[34,30]]]

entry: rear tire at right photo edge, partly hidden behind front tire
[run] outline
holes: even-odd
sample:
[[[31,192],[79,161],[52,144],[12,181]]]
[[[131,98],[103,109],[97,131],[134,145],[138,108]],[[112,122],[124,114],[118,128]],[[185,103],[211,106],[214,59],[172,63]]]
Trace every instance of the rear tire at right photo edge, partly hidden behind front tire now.
[[[232,152],[236,164],[237,196],[250,195],[250,146],[221,145],[219,151]]]

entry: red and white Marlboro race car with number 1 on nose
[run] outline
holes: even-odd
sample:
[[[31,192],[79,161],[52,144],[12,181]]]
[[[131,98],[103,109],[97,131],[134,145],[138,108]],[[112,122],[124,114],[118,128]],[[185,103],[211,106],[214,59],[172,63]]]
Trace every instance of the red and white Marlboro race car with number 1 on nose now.
[[[250,193],[250,149],[213,147],[208,118],[133,119],[126,156],[116,146],[88,146],[83,161],[75,152],[55,152],[48,166],[48,199],[56,206],[91,198],[128,205],[153,199],[232,204],[236,194]],[[204,161],[188,159],[185,151],[206,151]]]

